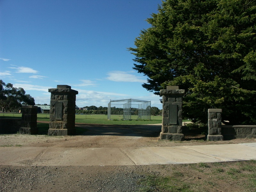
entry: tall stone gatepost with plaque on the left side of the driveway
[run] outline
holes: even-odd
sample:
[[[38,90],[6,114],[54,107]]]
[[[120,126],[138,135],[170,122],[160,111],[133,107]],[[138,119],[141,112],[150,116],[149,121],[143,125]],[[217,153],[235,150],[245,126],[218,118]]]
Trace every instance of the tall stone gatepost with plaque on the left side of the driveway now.
[[[51,92],[48,135],[76,134],[75,113],[78,91],[68,85],[57,85],[57,89],[48,89],[48,92]]]

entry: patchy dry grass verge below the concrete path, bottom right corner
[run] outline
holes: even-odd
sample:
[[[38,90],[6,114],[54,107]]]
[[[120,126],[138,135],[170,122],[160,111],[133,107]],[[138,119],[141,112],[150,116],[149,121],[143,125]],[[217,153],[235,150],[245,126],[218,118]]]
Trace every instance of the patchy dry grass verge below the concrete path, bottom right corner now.
[[[163,165],[143,175],[140,192],[256,191],[256,160]]]

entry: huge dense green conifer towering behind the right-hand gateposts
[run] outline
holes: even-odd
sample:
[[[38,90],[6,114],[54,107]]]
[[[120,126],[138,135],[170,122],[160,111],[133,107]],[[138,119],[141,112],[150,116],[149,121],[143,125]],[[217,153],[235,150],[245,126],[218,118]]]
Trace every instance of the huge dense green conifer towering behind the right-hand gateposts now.
[[[222,108],[231,124],[255,124],[256,1],[166,0],[151,16],[129,48],[142,86],[185,89],[183,116],[194,121]]]

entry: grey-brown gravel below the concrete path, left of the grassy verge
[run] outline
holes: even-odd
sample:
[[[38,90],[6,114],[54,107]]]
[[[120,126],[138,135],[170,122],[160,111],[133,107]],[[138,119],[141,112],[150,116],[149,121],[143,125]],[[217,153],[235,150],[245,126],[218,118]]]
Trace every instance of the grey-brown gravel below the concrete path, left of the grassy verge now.
[[[134,192],[143,187],[139,181],[147,167],[0,166],[0,191]]]

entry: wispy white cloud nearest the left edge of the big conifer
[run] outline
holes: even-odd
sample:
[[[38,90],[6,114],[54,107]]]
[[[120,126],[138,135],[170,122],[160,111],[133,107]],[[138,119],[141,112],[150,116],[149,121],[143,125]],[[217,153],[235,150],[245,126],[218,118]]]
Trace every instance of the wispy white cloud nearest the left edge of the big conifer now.
[[[139,82],[139,83],[146,82],[145,79],[142,79],[142,78],[135,76],[131,73],[133,73],[133,72],[111,71],[111,72],[108,72],[107,79],[110,81],[116,81],[116,82]]]

